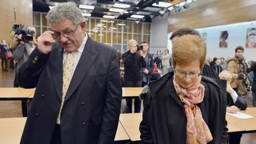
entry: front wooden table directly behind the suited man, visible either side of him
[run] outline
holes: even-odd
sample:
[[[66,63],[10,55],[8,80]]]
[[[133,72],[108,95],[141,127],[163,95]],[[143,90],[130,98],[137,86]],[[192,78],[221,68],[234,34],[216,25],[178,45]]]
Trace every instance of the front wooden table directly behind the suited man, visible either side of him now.
[[[17,144],[20,139],[25,126],[27,117],[17,118],[2,118],[0,119],[0,143]],[[130,140],[126,134],[123,126],[119,122],[115,141],[128,141]]]

